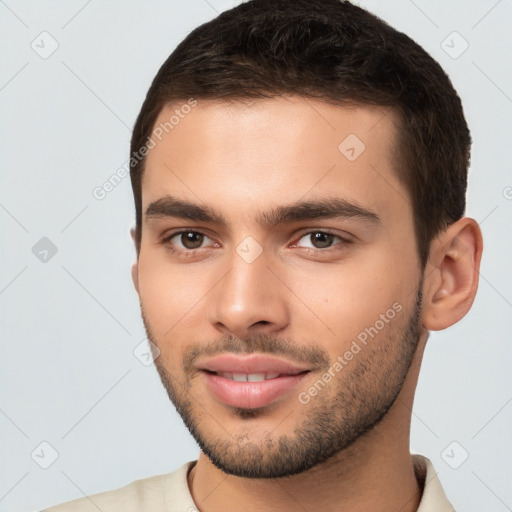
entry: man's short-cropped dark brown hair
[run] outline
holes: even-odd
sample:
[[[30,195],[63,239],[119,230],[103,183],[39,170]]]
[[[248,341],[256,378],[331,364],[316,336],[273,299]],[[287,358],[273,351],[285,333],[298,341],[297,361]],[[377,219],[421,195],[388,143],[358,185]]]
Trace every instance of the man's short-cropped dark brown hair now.
[[[163,107],[298,94],[391,107],[400,119],[397,174],[409,191],[422,266],[433,238],[465,210],[471,137],[460,98],[430,55],[368,11],[340,0],[252,0],[193,30],[160,68],[131,155]],[[140,250],[145,159],[131,159]]]

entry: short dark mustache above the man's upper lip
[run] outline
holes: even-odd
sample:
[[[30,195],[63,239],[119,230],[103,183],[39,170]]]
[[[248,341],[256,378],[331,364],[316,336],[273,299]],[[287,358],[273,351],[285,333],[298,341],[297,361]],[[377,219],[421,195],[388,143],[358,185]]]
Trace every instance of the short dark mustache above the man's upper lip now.
[[[289,339],[269,334],[255,334],[245,338],[228,335],[209,342],[202,342],[189,348],[183,356],[185,371],[194,368],[194,362],[200,356],[216,356],[221,353],[233,354],[263,353],[281,356],[296,363],[314,367],[329,366],[327,351],[317,345],[299,345]]]

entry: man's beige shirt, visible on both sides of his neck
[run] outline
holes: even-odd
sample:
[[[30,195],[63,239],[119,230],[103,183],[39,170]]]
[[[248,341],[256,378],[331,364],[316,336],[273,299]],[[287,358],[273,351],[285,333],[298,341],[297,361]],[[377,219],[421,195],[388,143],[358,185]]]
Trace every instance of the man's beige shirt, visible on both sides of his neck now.
[[[417,512],[454,512],[432,463],[413,455],[418,481],[424,481]],[[195,461],[166,475],[137,480],[116,491],[80,498],[43,512],[197,512],[187,484],[187,473]]]

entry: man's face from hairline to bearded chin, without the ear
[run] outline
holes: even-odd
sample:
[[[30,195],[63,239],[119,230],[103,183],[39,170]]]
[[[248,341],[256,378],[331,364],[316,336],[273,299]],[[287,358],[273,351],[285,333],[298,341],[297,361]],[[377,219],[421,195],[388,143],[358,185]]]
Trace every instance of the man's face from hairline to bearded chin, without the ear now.
[[[184,111],[142,181],[134,278],[157,369],[219,468],[297,473],[379,423],[416,348],[393,116],[293,96]]]

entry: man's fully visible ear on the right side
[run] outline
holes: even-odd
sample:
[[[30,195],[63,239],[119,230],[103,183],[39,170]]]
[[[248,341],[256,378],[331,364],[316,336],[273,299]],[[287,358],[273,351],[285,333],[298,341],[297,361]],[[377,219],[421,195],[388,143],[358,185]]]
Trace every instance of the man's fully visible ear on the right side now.
[[[423,287],[422,321],[427,329],[446,329],[469,311],[478,289],[482,250],[480,227],[468,217],[432,242]]]

